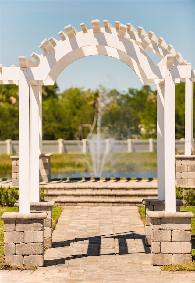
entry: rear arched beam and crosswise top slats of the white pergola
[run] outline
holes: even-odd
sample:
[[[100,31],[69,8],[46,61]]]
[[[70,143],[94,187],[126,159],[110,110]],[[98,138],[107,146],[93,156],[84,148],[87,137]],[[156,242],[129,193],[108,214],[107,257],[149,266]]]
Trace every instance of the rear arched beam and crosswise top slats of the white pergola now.
[[[131,25],[130,23],[127,23],[127,25],[123,25],[120,22],[116,21],[115,22],[115,27],[112,27],[112,25],[107,21],[104,20],[104,27],[100,26],[100,21],[99,20],[93,20],[92,21],[92,29],[89,29],[84,23],[80,24],[82,31],[77,32],[76,29],[74,29],[73,27],[71,27],[71,25],[66,26],[65,30],[67,32],[67,35],[61,31],[59,32],[60,37],[62,38],[61,41],[57,41],[53,38],[49,38],[49,40],[51,41],[51,43],[53,44],[50,45],[50,43],[45,39],[44,41],[42,41],[40,48],[44,51],[43,54],[41,54],[40,56],[36,53],[32,53],[31,55],[38,60],[38,62],[36,62],[37,64],[40,64],[42,59],[44,58],[44,56],[47,56],[47,53],[52,51],[52,48],[56,47],[57,45],[59,45],[62,41],[65,41],[65,39],[69,39],[72,37],[78,38],[80,36],[80,34],[89,34],[90,31],[92,31],[94,34],[97,33],[104,33],[105,34],[105,38],[106,38],[106,34],[117,34],[119,36],[122,36],[124,38],[126,38],[129,41],[133,41],[136,45],[141,45],[143,43],[143,41],[147,41],[147,46],[145,45],[145,48],[150,50],[151,52],[157,54],[160,57],[164,57],[168,54],[173,54],[175,56],[174,59],[174,65],[179,65],[179,64],[187,64],[187,62],[185,60],[183,60],[183,62],[181,62],[181,57],[178,56],[178,54],[176,53],[175,49],[173,48],[172,45],[167,45],[167,43],[165,42],[165,40],[163,38],[157,38],[156,35],[153,32],[149,32],[149,34],[147,34],[147,32],[143,29],[143,27],[138,27],[138,30],[136,30],[133,25]],[[83,38],[83,37],[82,37]],[[83,38],[84,40],[84,38]],[[149,41],[150,40],[150,43]],[[87,45],[87,38],[86,38],[86,45]],[[48,50],[49,48],[49,50]],[[178,60],[179,59],[179,60]]]

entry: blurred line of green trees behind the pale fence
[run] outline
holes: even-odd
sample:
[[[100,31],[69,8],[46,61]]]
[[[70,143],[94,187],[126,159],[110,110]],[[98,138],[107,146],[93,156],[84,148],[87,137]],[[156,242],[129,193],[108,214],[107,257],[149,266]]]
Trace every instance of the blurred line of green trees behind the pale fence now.
[[[126,93],[116,89],[42,87],[43,139],[89,138],[97,131],[99,117],[103,138],[156,138],[156,91],[144,85]],[[1,85],[1,140],[19,139],[18,86]],[[195,105],[195,103],[194,103]],[[195,122],[195,121],[194,121]],[[184,138],[185,83],[176,85],[176,138]],[[195,123],[193,123],[195,129]]]

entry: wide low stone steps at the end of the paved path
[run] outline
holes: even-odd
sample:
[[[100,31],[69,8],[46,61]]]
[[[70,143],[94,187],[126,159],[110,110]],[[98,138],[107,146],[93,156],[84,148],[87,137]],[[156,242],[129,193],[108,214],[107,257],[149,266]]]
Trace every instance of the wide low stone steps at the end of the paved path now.
[[[113,184],[111,188],[104,188],[103,182],[98,182],[100,188],[90,188],[88,187],[80,188],[61,188],[61,189],[47,189],[47,200],[54,200],[56,204],[66,205],[72,203],[84,204],[90,203],[91,205],[98,205],[101,203],[109,203],[109,205],[114,204],[137,204],[141,205],[142,199],[147,198],[157,198],[157,188],[114,188]],[[51,184],[50,184],[51,185]],[[74,184],[75,185],[75,184]],[[78,185],[78,184],[77,184]],[[81,184],[80,184],[81,185]],[[84,184],[82,184],[83,186]],[[91,184],[94,185],[94,184]],[[102,187],[101,187],[102,186]]]

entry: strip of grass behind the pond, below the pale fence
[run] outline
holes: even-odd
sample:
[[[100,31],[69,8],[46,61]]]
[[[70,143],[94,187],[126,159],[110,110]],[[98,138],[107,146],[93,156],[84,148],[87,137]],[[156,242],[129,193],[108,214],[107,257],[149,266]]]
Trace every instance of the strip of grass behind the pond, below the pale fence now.
[[[7,154],[0,155],[0,166],[2,174],[11,176],[11,162]],[[51,171],[56,173],[85,173],[90,172],[92,168],[91,154],[82,153],[62,153],[51,156]],[[128,173],[135,170],[157,170],[156,152],[120,152],[109,153],[106,156],[104,171]]]

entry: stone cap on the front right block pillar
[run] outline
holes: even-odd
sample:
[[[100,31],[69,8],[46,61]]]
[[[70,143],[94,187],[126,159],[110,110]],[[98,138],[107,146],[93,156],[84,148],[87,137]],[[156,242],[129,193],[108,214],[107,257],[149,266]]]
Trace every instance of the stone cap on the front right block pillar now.
[[[190,211],[165,212],[165,211],[147,211],[150,218],[193,218],[194,214]]]

